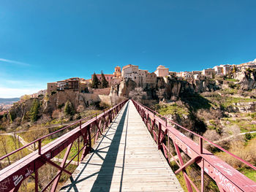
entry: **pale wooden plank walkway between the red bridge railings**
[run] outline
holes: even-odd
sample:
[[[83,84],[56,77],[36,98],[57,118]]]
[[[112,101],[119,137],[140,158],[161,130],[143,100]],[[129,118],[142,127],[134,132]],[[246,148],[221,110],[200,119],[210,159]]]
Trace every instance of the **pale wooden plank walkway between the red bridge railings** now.
[[[61,191],[183,191],[132,101]]]

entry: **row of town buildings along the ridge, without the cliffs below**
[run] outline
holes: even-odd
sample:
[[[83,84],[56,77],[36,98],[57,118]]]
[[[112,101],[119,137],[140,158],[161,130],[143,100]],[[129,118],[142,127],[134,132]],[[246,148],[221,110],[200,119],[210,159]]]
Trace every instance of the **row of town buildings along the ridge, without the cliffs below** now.
[[[154,83],[157,81],[157,77],[176,77],[177,80],[204,80],[206,78],[213,79],[216,76],[228,78],[236,77],[239,72],[245,72],[248,69],[256,69],[256,59],[239,65],[219,65],[214,66],[211,69],[203,69],[202,71],[193,72],[170,72],[169,68],[165,66],[158,66],[154,72],[148,72],[148,70],[139,69],[139,66],[129,64],[123,66],[116,66],[113,74],[103,74],[105,80],[108,82],[108,86],[120,85],[121,81],[132,80],[136,82],[138,86],[142,86],[145,83]],[[102,74],[95,74],[97,80],[102,81]],[[56,91],[79,91],[80,93],[88,93],[88,88],[93,88],[91,85],[94,79],[94,74],[91,74],[91,79],[85,80],[80,77],[72,77],[67,80],[59,80],[56,82],[48,82],[47,93],[55,93]]]

